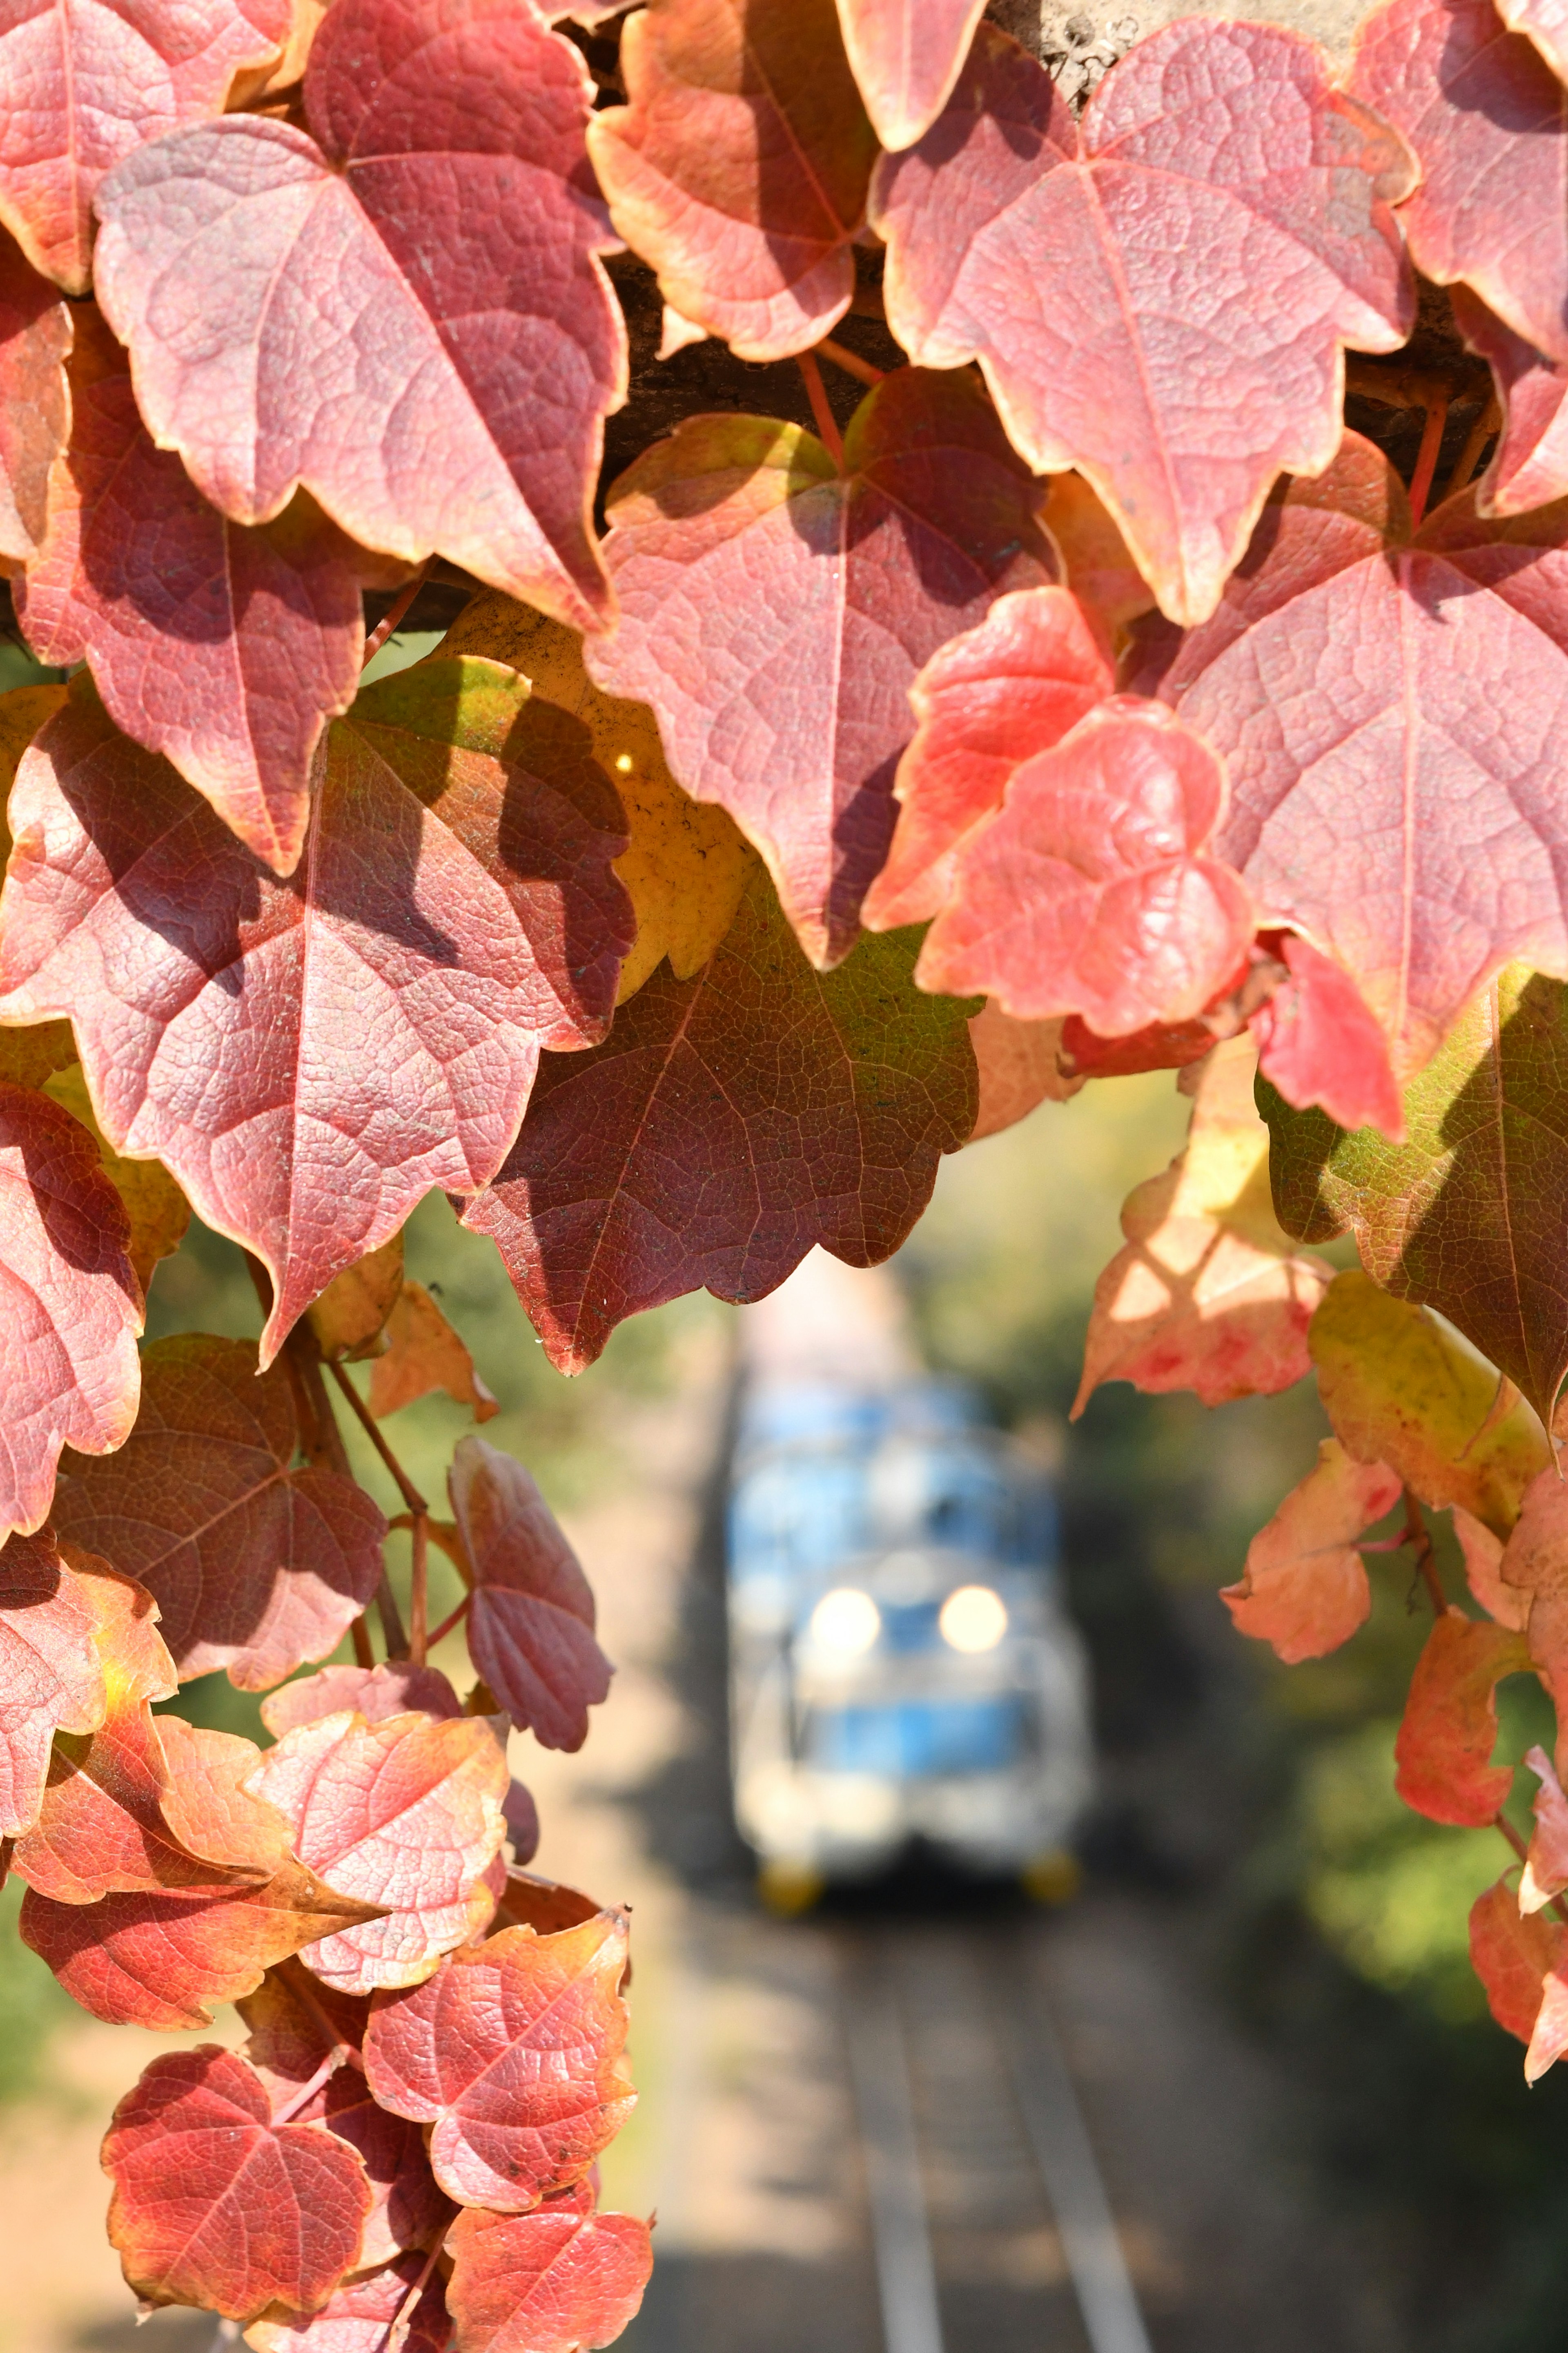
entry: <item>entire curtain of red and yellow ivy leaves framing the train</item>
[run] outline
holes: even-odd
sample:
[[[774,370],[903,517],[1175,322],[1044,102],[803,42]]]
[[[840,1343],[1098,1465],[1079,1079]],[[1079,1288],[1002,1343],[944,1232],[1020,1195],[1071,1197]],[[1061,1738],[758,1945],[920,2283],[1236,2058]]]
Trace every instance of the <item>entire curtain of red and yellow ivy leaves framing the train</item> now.
[[[1507,1828],[1497,1680],[1568,1692],[1563,71],[1544,0],[1382,0],[1340,80],[1178,21],[1081,115],[980,0],[0,26],[0,567],[71,673],[0,699],[0,1828],[89,2009],[249,2024],[110,2132],[148,2301],[567,2353],[646,2273],[592,2198],[625,1925],[520,1875],[503,1753],[581,1744],[592,1600],[517,1464],[463,1440],[435,1522],[378,1428],[487,1412],[402,1280],[430,1188],[571,1372],[679,1292],[879,1261],[943,1153],[1180,1068],[1084,1398],[1316,1367],[1335,1438],[1237,1624],[1314,1657],[1408,1541],[1401,1791]],[[816,431],[682,416],[599,536],[625,252],[665,355],[795,358]],[[1401,398],[1418,271],[1495,381],[1432,513],[1443,381],[1408,485],[1342,424],[1347,348]],[[444,642],[362,687],[433,581]],[[190,1209],[256,1351],[136,1348]],[[1352,1228],[1366,1273],[1298,1247]],[[155,1713],[214,1668],[270,1748]],[[1563,1762],[1476,1915],[1533,2073]]]

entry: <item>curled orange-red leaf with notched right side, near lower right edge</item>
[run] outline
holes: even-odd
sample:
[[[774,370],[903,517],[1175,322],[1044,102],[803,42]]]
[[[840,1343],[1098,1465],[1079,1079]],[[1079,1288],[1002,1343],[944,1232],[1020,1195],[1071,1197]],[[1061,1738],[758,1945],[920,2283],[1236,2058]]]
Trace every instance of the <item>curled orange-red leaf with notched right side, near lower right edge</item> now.
[[[1514,1786],[1512,1765],[1493,1765],[1497,1682],[1526,1673],[1530,1652],[1512,1626],[1448,1609],[1415,1661],[1394,1744],[1394,1788],[1429,1821],[1483,1831]]]

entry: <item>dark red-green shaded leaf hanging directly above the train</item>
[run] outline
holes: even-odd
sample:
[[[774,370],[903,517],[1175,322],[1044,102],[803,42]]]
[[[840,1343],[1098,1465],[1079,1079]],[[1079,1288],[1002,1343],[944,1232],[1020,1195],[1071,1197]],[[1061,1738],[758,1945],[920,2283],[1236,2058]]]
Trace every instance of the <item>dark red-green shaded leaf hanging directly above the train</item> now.
[[[712,962],[668,965],[595,1054],[545,1056],[489,1233],[550,1362],[581,1372],[628,1315],[705,1285],[762,1299],[820,1242],[891,1257],[976,1125],[950,998],[910,986],[910,932],[818,974],[757,875]]]

